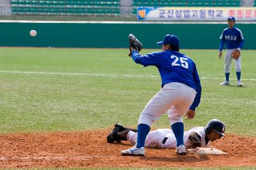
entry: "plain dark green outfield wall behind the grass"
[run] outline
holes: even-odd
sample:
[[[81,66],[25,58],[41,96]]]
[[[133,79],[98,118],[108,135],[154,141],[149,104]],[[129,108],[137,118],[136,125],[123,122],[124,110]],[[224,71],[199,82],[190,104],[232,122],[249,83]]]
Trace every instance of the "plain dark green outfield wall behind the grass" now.
[[[180,48],[217,49],[227,24],[136,24],[136,23],[23,23],[0,22],[0,46],[73,48],[127,48],[132,33],[144,48],[159,48],[166,34],[180,38]],[[256,49],[256,24],[236,24],[243,31],[244,49]],[[29,36],[35,29],[38,34]]]

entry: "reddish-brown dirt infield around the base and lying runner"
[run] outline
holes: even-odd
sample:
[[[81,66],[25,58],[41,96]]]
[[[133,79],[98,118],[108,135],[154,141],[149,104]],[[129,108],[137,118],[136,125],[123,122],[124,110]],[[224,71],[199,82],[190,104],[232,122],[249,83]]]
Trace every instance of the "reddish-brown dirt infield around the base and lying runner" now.
[[[0,168],[256,167],[256,138],[227,134],[212,143],[227,156],[179,156],[175,150],[146,149],[145,157],[124,157],[120,151],[132,145],[106,143],[110,130],[1,134]]]

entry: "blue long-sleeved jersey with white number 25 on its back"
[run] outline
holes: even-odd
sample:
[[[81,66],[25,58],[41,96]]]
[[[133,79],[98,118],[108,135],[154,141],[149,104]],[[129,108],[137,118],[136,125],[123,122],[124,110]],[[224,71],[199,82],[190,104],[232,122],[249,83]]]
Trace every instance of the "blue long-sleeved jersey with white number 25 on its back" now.
[[[166,83],[178,82],[196,90],[196,83],[200,83],[195,62],[183,53],[166,50],[141,55],[133,50],[132,59],[145,67],[156,66],[161,75],[162,87]]]

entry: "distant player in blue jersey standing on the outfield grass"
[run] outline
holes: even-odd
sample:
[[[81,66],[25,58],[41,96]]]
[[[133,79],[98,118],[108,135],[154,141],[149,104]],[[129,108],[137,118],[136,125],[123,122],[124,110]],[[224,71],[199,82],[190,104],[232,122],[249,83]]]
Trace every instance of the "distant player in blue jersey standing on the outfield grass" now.
[[[229,74],[230,74],[230,67],[231,67],[231,53],[234,50],[241,51],[241,48],[243,48],[244,44],[244,37],[243,33],[240,29],[237,29],[235,27],[236,20],[234,17],[228,17],[228,28],[224,29],[221,36],[220,36],[220,53],[219,57],[221,59],[222,56],[222,50],[226,43],[227,46],[227,52],[225,54],[225,76],[226,80],[223,83],[220,83],[220,85],[229,85]],[[237,76],[237,85],[239,87],[243,86],[243,83],[241,82],[241,56],[239,59],[235,60],[236,65],[236,76]]]

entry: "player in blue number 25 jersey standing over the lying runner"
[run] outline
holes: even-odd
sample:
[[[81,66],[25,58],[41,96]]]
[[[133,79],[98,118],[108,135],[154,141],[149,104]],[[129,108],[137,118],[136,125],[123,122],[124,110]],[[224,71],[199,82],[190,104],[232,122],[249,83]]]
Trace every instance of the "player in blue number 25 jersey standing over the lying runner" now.
[[[136,145],[123,150],[123,155],[145,155],[145,139],[152,122],[166,112],[177,141],[176,153],[186,154],[182,115],[186,113],[188,119],[195,117],[195,108],[200,103],[202,88],[195,63],[186,55],[179,53],[179,43],[177,36],[167,34],[163,41],[157,43],[162,45],[161,52],[140,55],[138,51],[131,49],[134,62],[145,67],[158,68],[162,88],[141,112]]]

